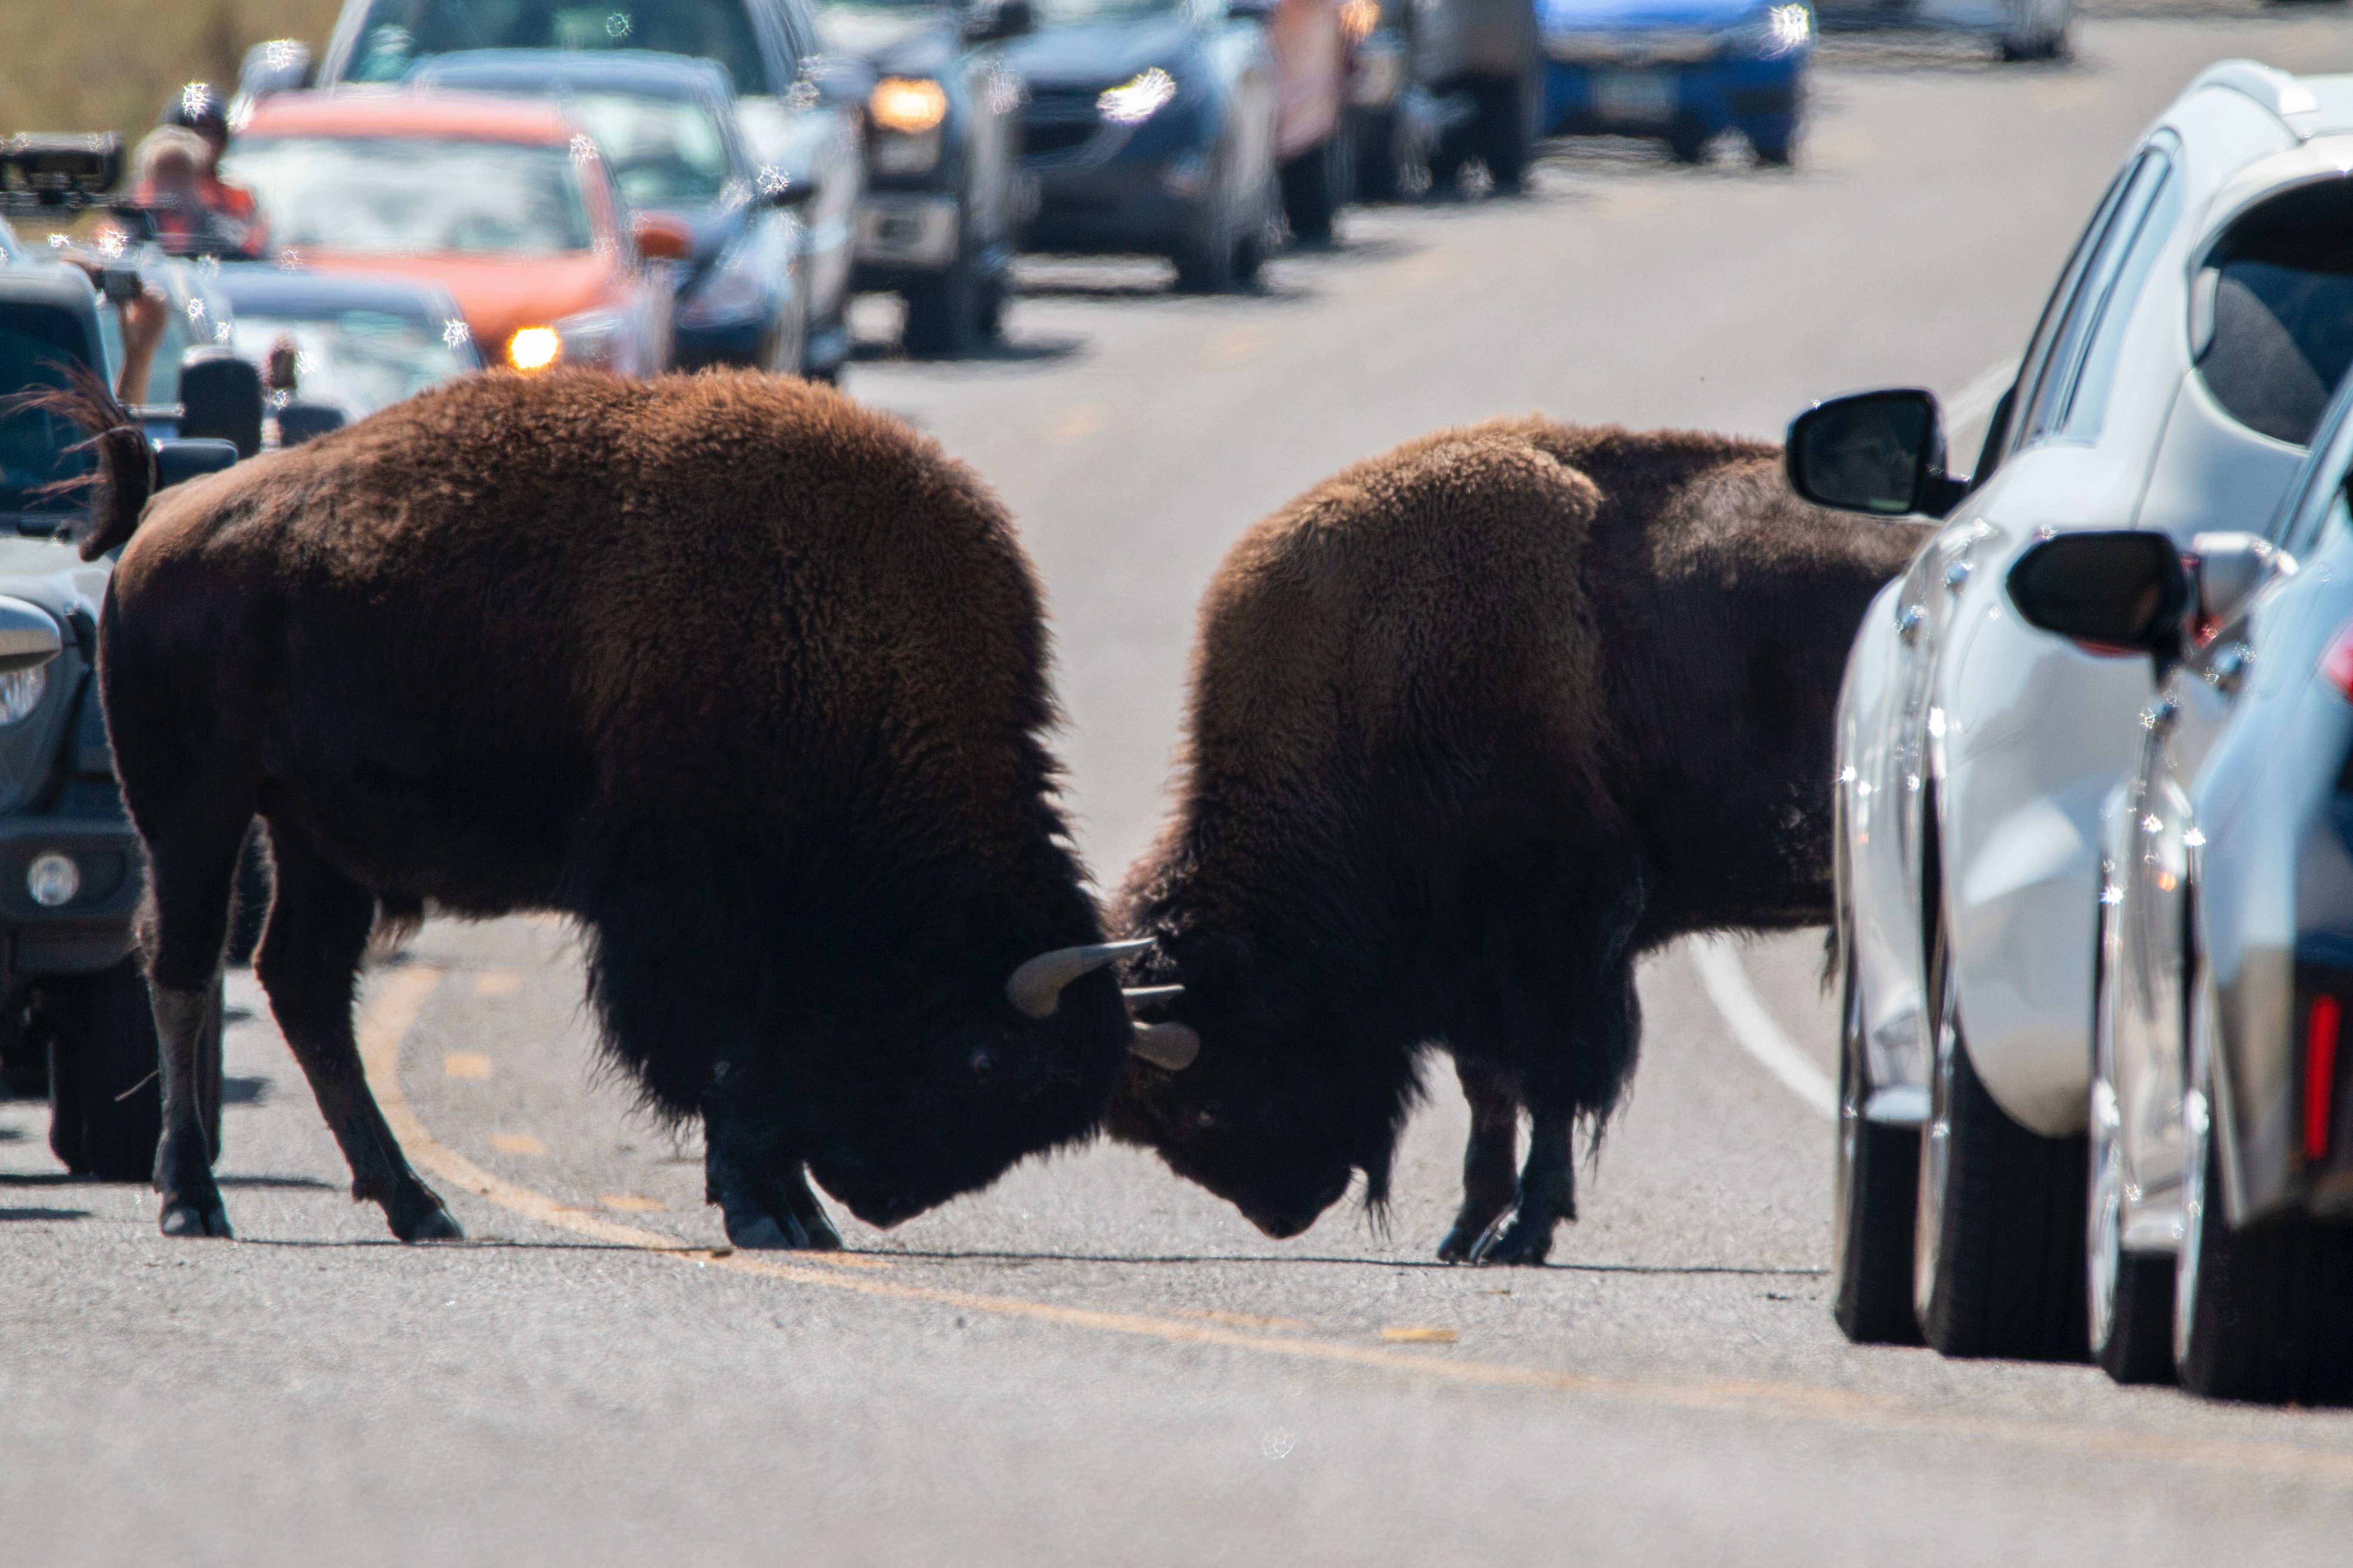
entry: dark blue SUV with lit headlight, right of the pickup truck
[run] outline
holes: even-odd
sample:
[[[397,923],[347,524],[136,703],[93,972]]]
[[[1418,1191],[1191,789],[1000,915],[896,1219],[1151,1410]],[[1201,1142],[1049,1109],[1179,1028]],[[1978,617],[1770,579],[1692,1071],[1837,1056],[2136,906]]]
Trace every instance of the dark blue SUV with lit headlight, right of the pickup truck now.
[[[1176,287],[1249,282],[1278,212],[1275,68],[1259,0],[1035,0],[1024,249],[1160,254]]]

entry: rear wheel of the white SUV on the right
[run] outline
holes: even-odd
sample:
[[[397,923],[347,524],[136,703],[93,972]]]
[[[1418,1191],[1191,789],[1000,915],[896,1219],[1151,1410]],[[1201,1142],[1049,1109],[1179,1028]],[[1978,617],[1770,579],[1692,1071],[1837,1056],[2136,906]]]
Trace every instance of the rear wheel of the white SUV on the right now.
[[[1951,940],[1929,947],[1929,1121],[1913,1218],[1913,1312],[1946,1356],[2080,1361],[2085,1140],[2040,1138],[1969,1063]]]

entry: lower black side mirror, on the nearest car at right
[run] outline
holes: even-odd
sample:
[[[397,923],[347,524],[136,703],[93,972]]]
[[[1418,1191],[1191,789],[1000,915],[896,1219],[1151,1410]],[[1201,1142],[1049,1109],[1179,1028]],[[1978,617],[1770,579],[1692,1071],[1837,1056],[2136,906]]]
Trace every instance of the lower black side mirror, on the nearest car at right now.
[[[2059,534],[2009,569],[2019,616],[2089,654],[2174,658],[2193,595],[2174,541],[2139,529]]]

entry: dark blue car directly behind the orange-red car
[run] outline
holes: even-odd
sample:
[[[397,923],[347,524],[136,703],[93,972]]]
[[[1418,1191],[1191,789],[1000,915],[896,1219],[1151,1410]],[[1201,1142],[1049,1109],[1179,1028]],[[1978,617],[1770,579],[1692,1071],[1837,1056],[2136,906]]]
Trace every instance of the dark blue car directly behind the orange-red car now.
[[[713,61],[640,49],[471,49],[426,59],[407,82],[560,99],[595,136],[621,200],[687,226],[694,240],[675,263],[671,317],[680,369],[812,369],[805,230],[779,205],[807,188],[774,176],[760,183],[734,89]]]

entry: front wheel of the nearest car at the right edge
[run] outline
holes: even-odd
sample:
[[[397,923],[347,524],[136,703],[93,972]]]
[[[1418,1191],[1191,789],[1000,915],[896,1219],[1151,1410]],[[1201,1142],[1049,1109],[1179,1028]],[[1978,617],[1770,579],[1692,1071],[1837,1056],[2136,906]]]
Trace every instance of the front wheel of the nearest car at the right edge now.
[[[2106,875],[2101,877],[2106,882]],[[2101,903],[2101,947],[2092,966],[2089,1192],[2085,1194],[2085,1326],[2092,1361],[2115,1382],[2172,1382],[2174,1260],[2125,1251],[2125,1112],[2115,1098],[2115,997]]]

